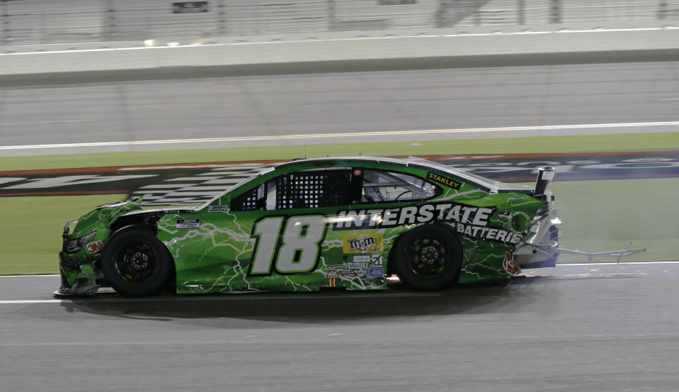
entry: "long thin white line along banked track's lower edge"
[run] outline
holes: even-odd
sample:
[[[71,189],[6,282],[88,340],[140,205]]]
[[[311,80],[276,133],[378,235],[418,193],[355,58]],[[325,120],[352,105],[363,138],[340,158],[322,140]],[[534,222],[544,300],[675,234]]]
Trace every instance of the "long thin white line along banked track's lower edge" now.
[[[127,140],[121,142],[84,142],[84,143],[61,143],[49,145],[5,145],[0,150],[31,150],[45,148],[68,148],[68,147],[105,147],[114,145],[163,145],[176,143],[212,143],[212,142],[245,142],[245,141],[270,141],[270,140],[303,140],[303,139],[327,139],[327,138],[361,138],[367,136],[397,136],[397,135],[431,135],[452,133],[484,133],[484,132],[507,132],[512,133],[520,130],[564,130],[564,129],[593,129],[593,128],[632,128],[632,127],[656,127],[679,125],[679,121],[656,121],[650,123],[608,123],[608,124],[574,124],[574,125],[535,125],[523,127],[496,127],[496,128],[457,128],[457,129],[429,129],[429,130],[386,130],[377,132],[346,132],[346,133],[312,133],[309,135],[263,135],[263,136],[238,136],[232,138],[196,138],[196,139],[167,139],[167,140]]]

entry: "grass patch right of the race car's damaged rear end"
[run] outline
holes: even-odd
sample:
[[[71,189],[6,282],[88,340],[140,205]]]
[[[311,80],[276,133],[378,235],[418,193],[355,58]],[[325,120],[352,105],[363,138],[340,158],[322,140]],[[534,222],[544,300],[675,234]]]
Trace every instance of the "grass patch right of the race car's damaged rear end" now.
[[[620,179],[557,181],[552,184],[563,224],[559,246],[585,252],[632,249],[647,251],[623,260],[671,261],[679,259],[676,237],[679,223],[671,211],[679,194],[679,179]],[[610,257],[599,262],[615,261]],[[587,262],[586,257],[561,254],[559,262]]]

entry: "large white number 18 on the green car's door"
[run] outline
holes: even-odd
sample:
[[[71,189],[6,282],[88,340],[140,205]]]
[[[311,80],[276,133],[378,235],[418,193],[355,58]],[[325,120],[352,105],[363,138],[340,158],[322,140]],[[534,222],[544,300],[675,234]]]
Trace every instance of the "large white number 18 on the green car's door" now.
[[[269,275],[275,265],[279,274],[305,274],[316,269],[326,218],[306,215],[272,216],[255,222],[250,237],[256,238],[249,275]]]

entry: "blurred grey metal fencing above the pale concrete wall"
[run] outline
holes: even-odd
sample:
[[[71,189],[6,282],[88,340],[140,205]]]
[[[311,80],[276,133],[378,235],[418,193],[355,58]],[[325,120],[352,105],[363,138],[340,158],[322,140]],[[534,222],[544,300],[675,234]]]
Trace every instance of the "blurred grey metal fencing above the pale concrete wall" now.
[[[0,45],[678,18],[679,0],[0,0]]]

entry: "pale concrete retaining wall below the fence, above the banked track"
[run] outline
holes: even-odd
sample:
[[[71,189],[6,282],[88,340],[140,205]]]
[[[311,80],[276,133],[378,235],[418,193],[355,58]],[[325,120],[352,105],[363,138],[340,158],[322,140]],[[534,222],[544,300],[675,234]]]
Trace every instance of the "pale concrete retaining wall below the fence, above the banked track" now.
[[[342,70],[333,65],[345,62],[379,64],[396,59],[409,59],[410,66],[428,59],[447,62],[448,66],[513,65],[504,64],[501,57],[513,58],[510,63],[522,58],[567,62],[569,54],[596,60],[599,52],[607,53],[607,58],[614,61],[616,57],[622,61],[679,60],[679,28],[674,26],[525,27],[501,31],[457,28],[249,36],[177,43],[10,46],[0,48],[0,75],[157,71],[167,67],[268,68],[273,72],[280,67],[285,72],[291,65],[324,71]]]

